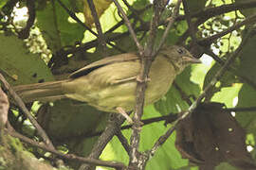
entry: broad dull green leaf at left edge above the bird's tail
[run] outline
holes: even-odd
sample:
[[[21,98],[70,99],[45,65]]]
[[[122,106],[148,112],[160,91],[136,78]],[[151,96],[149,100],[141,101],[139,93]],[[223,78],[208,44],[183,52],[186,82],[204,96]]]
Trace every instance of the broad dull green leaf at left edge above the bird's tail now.
[[[0,72],[12,85],[54,79],[43,59],[29,53],[25,42],[17,37],[0,34],[0,46]]]

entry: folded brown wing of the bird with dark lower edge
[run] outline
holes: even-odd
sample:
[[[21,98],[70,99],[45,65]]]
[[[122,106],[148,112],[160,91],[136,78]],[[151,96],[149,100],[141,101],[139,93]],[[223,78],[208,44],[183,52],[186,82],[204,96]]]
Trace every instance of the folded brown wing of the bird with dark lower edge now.
[[[139,57],[137,56],[136,53],[125,53],[125,54],[120,54],[120,55],[116,55],[113,57],[108,57],[108,58],[104,58],[98,61],[95,61],[89,65],[86,65],[85,67],[82,67],[81,69],[75,71],[74,73],[72,73],[71,75],[69,75],[68,77],[70,78],[76,78],[79,76],[85,76],[87,74],[89,74],[90,72],[101,68],[102,66],[111,64],[111,63],[115,63],[115,62],[122,62],[122,61],[129,61],[129,60],[136,60]]]

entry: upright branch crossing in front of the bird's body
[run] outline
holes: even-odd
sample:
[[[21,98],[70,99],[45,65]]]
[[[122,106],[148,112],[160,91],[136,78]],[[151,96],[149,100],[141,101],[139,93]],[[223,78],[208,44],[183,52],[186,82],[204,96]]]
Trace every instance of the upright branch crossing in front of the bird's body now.
[[[156,30],[158,22],[163,11],[163,1],[154,1],[154,15],[150,25],[149,39],[146,43],[146,49],[141,56],[141,68],[139,75],[137,77],[137,89],[136,89],[136,107],[135,115],[133,117],[135,124],[133,125],[132,136],[131,136],[131,146],[132,150],[129,153],[129,168],[142,169],[143,164],[141,164],[140,156],[141,154],[138,151],[139,141],[140,141],[140,131],[141,131],[141,116],[143,114],[145,91],[146,91],[146,78],[149,74],[152,61],[155,57],[152,55],[153,48],[155,44]]]

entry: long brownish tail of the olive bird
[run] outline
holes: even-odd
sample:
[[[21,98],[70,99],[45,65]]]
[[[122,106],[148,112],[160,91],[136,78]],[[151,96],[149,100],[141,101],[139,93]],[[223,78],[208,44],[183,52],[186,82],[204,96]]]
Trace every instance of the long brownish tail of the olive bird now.
[[[63,92],[63,83],[66,81],[68,81],[68,79],[20,85],[13,87],[13,89],[16,93],[18,93],[25,103],[35,100],[54,101],[56,99],[65,98]]]

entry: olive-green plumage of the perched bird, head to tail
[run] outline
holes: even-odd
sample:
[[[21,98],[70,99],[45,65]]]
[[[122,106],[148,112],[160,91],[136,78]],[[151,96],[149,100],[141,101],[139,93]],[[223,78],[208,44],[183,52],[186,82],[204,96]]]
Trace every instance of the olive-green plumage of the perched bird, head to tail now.
[[[145,105],[160,99],[178,75],[198,59],[183,47],[166,46],[156,56],[149,73]],[[126,53],[93,62],[71,74],[67,79],[54,82],[14,87],[25,102],[51,101],[72,98],[88,103],[98,110],[117,112],[116,108],[133,110],[136,99],[137,76],[140,60],[136,53]]]

